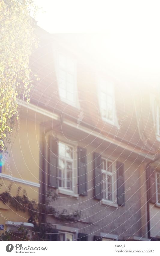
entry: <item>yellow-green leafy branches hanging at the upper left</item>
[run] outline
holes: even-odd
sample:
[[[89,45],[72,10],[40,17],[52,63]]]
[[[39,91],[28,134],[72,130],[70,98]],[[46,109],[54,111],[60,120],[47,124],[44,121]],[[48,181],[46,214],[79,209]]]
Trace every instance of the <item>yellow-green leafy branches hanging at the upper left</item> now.
[[[0,151],[5,152],[9,134],[18,119],[17,100],[22,94],[29,102],[33,74],[29,56],[38,46],[34,34],[34,0],[0,2]]]

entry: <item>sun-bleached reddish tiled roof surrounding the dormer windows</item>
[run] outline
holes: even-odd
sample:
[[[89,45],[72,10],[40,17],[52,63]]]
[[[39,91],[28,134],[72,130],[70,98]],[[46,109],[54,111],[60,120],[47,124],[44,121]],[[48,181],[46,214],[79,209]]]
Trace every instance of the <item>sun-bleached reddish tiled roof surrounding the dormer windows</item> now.
[[[115,137],[117,141],[124,141],[126,145],[131,143],[135,147],[142,148],[146,138],[149,137],[143,151],[154,153],[159,143],[156,141],[155,127],[153,127],[150,89],[145,84],[139,87],[137,84],[131,82],[128,84],[128,81],[121,81],[116,77],[104,62],[100,63],[99,59],[97,60],[94,52],[86,51],[85,34],[52,35],[39,27],[37,33],[40,37],[40,47],[32,54],[30,67],[38,74],[40,80],[34,81],[30,95],[31,103],[59,115],[63,113],[75,123],[80,111],[83,111],[81,125],[98,130],[104,136]],[[88,37],[93,40],[93,36]],[[62,102],[59,97],[54,58],[57,47],[65,49],[77,59],[80,109]],[[122,122],[120,129],[101,119],[95,70],[115,84],[116,115],[119,124]],[[124,116],[127,117],[125,121]],[[153,131],[150,133],[152,128]],[[116,132],[117,136],[114,136]]]

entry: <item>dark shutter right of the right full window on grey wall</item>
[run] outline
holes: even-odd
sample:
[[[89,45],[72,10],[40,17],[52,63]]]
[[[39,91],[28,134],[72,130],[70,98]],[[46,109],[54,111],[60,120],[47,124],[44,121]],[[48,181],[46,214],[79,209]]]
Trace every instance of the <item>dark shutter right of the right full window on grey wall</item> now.
[[[124,164],[117,162],[117,203],[123,206],[125,205],[124,182]]]

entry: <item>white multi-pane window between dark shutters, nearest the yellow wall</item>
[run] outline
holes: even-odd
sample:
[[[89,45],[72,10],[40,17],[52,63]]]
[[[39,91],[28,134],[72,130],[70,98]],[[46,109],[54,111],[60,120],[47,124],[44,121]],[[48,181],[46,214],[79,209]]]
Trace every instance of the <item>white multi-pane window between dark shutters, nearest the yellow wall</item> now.
[[[59,187],[73,190],[73,147],[59,142]]]

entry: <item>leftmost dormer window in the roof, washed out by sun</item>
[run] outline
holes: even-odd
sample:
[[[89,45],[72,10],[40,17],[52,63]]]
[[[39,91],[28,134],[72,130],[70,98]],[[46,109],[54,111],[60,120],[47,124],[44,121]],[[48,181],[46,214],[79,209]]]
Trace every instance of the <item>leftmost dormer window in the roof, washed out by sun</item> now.
[[[62,54],[58,57],[58,82],[61,99],[75,104],[77,87],[75,61]]]

